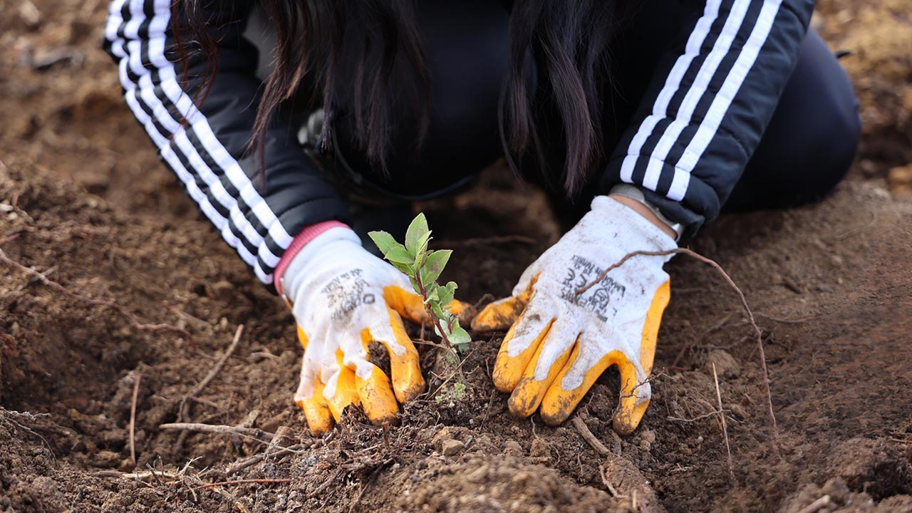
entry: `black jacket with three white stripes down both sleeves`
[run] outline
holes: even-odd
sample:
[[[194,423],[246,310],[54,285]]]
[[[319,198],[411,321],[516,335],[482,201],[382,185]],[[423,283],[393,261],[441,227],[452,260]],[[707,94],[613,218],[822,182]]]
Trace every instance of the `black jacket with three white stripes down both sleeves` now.
[[[205,4],[219,61],[199,105],[193,97],[208,63],[193,57],[191,80],[181,81],[171,0],[113,0],[105,37],[130,110],[161,159],[271,285],[296,234],[321,221],[346,221],[349,208],[302,152],[294,116],[270,128],[264,183],[258,178],[246,152],[261,89],[258,52],[244,37],[253,4]],[[601,191],[633,183],[689,234],[716,217],[771,120],[813,9],[813,0],[646,0],[619,47],[620,93],[630,107],[615,113],[623,125],[606,148]],[[384,182],[411,195],[457,183],[503,154],[496,123],[507,9],[498,2],[420,2],[418,14],[431,72],[430,149],[419,164],[390,162]],[[368,167],[359,170],[382,181]]]

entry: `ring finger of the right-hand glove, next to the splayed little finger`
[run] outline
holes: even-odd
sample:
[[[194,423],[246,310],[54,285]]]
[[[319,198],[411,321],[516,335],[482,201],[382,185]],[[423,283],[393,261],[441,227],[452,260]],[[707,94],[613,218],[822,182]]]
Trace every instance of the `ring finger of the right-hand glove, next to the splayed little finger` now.
[[[620,351],[611,351],[601,357],[583,351],[585,347],[597,347],[591,342],[587,344],[585,336],[581,335],[576,341],[570,360],[544,393],[541,414],[545,424],[557,425],[567,420],[598,376],[623,357]]]

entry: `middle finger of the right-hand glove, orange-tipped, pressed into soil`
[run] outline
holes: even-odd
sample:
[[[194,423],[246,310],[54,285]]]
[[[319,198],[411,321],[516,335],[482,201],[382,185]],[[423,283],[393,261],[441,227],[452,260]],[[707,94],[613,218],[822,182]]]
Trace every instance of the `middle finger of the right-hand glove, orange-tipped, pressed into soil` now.
[[[578,334],[575,324],[563,319],[554,321],[510,395],[507,403],[511,414],[524,418],[535,413],[542,403],[544,393],[570,360],[570,352]]]

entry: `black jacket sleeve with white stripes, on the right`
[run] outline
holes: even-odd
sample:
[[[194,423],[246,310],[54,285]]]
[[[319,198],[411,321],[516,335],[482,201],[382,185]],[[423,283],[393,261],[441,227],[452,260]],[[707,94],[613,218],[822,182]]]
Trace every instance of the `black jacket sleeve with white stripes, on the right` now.
[[[719,215],[797,61],[813,0],[694,5],[608,160],[692,236]]]

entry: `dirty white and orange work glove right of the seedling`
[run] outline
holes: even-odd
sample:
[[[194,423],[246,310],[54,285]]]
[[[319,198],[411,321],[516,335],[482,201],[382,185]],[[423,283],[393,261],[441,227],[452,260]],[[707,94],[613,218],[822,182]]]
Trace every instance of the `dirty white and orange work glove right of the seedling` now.
[[[668,305],[670,256],[631,257],[583,294],[576,291],[637,250],[677,247],[633,209],[597,196],[575,227],[528,267],[513,297],[495,301],[472,321],[478,331],[506,330],[493,381],[512,393],[518,417],[541,406],[547,424],[573,413],[608,367],[620,373],[614,428],[629,434],[649,404],[648,375],[662,312]]]

